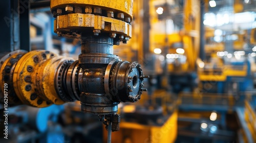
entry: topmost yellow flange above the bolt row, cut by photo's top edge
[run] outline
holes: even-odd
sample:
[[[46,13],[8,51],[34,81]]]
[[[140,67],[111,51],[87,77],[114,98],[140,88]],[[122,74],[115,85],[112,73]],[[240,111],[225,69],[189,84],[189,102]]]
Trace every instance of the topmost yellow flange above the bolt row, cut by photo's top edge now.
[[[56,8],[65,8],[67,5],[71,6],[92,6],[104,10],[112,10],[114,12],[124,13],[125,16],[133,17],[133,0],[52,0],[51,10]]]

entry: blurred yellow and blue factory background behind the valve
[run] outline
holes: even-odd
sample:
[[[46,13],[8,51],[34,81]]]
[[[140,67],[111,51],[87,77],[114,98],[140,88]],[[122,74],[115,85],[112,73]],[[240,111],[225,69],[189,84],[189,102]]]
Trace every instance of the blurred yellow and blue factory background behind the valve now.
[[[50,8],[52,1],[59,0],[51,0],[51,2],[47,0],[2,0],[0,2],[2,32],[0,35],[0,57],[2,57],[0,88],[3,93],[4,83],[9,78],[6,77],[7,60],[10,60],[8,62],[11,64],[9,73],[14,72],[14,76],[11,77],[12,82],[23,82],[14,80],[16,67],[14,69],[13,66],[17,66],[16,62],[19,60],[15,51],[19,50],[19,53],[24,55],[26,53],[24,51],[46,50],[48,53],[50,51],[50,53],[71,57],[74,60],[78,60],[81,51],[84,52],[81,50],[83,42],[74,38],[77,32],[70,34],[71,37],[74,36],[73,38],[67,38],[69,33],[57,31],[60,26],[55,26],[54,23],[61,23],[59,19],[62,15],[59,14],[59,9],[54,11],[55,7]],[[143,76],[143,73],[137,73],[140,77],[138,79],[134,76],[133,90],[136,90],[138,82],[147,88],[147,92],[142,93],[145,89],[139,86],[138,94],[135,93],[135,98],[139,97],[138,99],[142,93],[138,102],[119,104],[117,113],[120,114],[118,122],[120,130],[115,131],[112,127],[112,131],[115,132],[112,132],[111,142],[256,142],[255,0],[133,0],[132,3],[126,0],[91,1],[99,3],[95,5],[102,6],[102,15],[104,14],[103,7],[106,5],[101,3],[120,4],[125,7],[133,5],[133,19],[130,19],[129,12],[124,12],[125,17],[120,18],[119,15],[114,14],[109,16],[111,12],[107,11],[106,17],[114,18],[115,16],[132,27],[129,29],[132,35],[124,32],[123,35],[126,36],[121,37],[122,35],[113,36],[112,33],[113,51],[114,55],[118,55],[123,61],[138,61],[144,75],[150,76],[147,78]],[[91,1],[87,2],[91,3]],[[59,2],[68,3],[69,0]],[[78,5],[73,3],[74,6]],[[66,8],[65,6],[62,11],[67,13],[84,13],[81,11],[85,11],[87,14],[99,14],[95,11],[94,5],[89,12],[87,7],[82,9],[74,7],[74,10],[72,7],[70,10],[71,6],[66,6]],[[113,9],[116,12],[115,8]],[[90,12],[90,10],[93,11]],[[59,21],[56,22],[57,20]],[[100,36],[103,33],[97,33],[95,30],[93,32],[94,36]],[[115,41],[116,37],[121,39]],[[130,37],[132,38],[129,39]],[[86,40],[82,39],[82,41]],[[16,54],[16,61],[6,57],[9,52],[12,52],[14,56]],[[24,62],[25,58],[23,58]],[[141,69],[140,66],[136,65],[131,69]],[[50,70],[51,66],[48,68],[46,68],[46,73],[57,72],[55,69]],[[42,71],[41,68],[39,69]],[[111,72],[116,72],[116,70]],[[44,79],[44,84],[51,86],[51,82],[52,80]],[[91,80],[86,86],[98,88],[93,82],[97,81]],[[38,84],[41,83],[35,85]],[[106,83],[103,81],[103,84]],[[18,94],[16,90],[18,86],[18,83],[16,86],[14,84],[15,93],[10,92]],[[44,87],[35,92],[47,90]],[[69,87],[66,88],[69,89]],[[73,89],[74,87],[71,91],[74,91]],[[128,90],[131,94],[133,93],[131,88]],[[69,91],[67,95],[70,95]],[[8,91],[9,94],[10,92]],[[20,89],[19,92],[23,91]],[[47,97],[47,92],[44,94]],[[80,104],[80,101],[63,100],[68,103],[38,108],[42,107],[39,106],[41,104],[38,103],[39,100],[37,100],[38,106],[31,107],[35,106],[32,103],[34,100],[32,94],[29,102],[31,106],[25,105],[27,104],[24,101],[25,98],[18,96],[17,99],[15,101],[9,98],[8,139],[5,139],[2,133],[5,129],[5,116],[0,117],[2,120],[0,142],[109,142],[108,135],[110,134],[106,129],[111,122],[114,126],[114,119],[108,120],[108,116],[98,113],[100,111],[95,113],[95,110],[89,111],[83,106],[82,111],[94,112],[94,114],[81,112],[81,104],[85,105],[83,103],[86,101],[81,101]],[[10,100],[13,100],[13,105]],[[18,103],[19,100],[22,103]],[[127,100],[119,99],[119,102],[127,102]],[[46,104],[48,105],[48,102]],[[3,113],[4,107],[4,103],[0,104]],[[117,106],[114,106],[113,102],[114,107]],[[110,113],[113,114],[116,111],[113,109]],[[104,117],[107,123],[103,121]],[[106,123],[106,126],[99,121],[99,118],[104,124]]]

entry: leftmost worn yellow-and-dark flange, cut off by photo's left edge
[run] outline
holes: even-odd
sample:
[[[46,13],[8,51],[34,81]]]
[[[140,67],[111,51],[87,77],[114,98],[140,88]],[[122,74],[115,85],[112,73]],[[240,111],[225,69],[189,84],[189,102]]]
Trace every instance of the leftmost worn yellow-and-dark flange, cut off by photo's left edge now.
[[[0,59],[0,99],[1,101],[4,100],[4,85],[5,83],[7,84],[8,90],[7,95],[8,95],[8,104],[22,104],[18,97],[16,96],[14,89],[13,89],[13,84],[12,84],[12,73],[13,70],[16,66],[16,62],[25,54],[27,53],[24,50],[17,50],[14,52],[11,52],[4,56],[2,59]],[[9,69],[7,69],[9,68]],[[1,92],[2,91],[2,92]]]

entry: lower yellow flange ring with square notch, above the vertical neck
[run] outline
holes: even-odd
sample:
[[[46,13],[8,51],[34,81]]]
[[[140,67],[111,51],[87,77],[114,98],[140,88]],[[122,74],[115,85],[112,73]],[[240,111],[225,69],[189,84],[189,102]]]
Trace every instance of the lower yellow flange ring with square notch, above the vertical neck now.
[[[132,26],[129,23],[111,17],[94,14],[70,13],[57,16],[54,22],[54,32],[69,32],[71,29],[82,30],[81,28],[113,32],[129,38],[132,36]]]

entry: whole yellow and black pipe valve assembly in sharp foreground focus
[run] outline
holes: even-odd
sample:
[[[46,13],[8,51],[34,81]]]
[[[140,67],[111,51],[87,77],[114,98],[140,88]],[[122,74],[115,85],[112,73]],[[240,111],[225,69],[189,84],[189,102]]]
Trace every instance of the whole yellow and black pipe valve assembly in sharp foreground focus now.
[[[79,100],[83,112],[100,118],[109,130],[119,130],[120,102],[140,99],[143,79],[137,62],[121,61],[113,45],[131,38],[133,1],[51,1],[54,32],[81,40],[79,60],[50,51],[14,51],[0,64],[1,98],[10,105],[47,107]],[[3,47],[4,48],[4,47]]]

